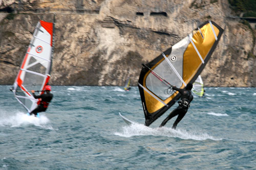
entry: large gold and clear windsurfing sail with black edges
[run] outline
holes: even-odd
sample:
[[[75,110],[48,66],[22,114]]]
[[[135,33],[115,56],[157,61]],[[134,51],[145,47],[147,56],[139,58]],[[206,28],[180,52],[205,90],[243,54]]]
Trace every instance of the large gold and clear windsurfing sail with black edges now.
[[[223,29],[215,22],[205,21],[188,36],[143,65],[138,88],[146,126],[150,126],[179,100],[180,93],[173,91],[172,86],[185,88],[186,84],[194,83],[222,33]]]

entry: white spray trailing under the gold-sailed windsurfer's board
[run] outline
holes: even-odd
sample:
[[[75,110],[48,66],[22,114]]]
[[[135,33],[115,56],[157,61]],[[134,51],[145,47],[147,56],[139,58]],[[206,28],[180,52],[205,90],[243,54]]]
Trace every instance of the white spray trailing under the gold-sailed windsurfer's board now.
[[[194,140],[222,140],[215,137],[212,137],[204,132],[198,131],[187,131],[187,130],[174,130],[172,128],[150,128],[142,124],[134,123],[131,126],[125,126],[122,128],[122,132],[115,132],[115,135],[121,137],[132,137],[132,136],[166,136],[166,137],[178,137],[181,139],[194,139]]]

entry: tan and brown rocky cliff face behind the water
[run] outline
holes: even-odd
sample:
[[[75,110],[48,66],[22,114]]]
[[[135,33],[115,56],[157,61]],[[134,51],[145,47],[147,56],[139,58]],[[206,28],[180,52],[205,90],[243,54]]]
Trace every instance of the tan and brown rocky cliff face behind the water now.
[[[224,34],[201,76],[206,86],[256,86],[255,28],[232,15],[227,0],[0,0],[0,84],[11,85],[39,19],[52,22],[51,85],[137,85],[151,61],[205,20]],[[5,10],[12,10],[7,14]]]

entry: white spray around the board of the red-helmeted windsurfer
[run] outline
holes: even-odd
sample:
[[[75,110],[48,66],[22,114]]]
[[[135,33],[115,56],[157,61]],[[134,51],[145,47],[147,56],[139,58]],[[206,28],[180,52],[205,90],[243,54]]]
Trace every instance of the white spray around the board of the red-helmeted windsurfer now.
[[[49,119],[40,114],[40,117],[29,116],[22,112],[12,113],[12,114],[1,114],[0,116],[0,126],[7,127],[23,127],[27,125],[39,126],[45,129],[53,129],[49,123]]]

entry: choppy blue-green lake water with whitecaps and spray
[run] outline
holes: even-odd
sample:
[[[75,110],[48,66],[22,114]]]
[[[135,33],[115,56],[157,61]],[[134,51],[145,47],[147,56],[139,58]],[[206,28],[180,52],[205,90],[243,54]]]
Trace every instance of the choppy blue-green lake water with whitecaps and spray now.
[[[53,86],[40,118],[0,86],[0,169],[255,169],[256,88],[206,88],[178,124],[150,127],[137,87]],[[137,122],[127,126],[119,112]]]

